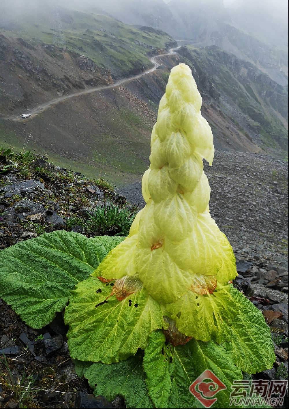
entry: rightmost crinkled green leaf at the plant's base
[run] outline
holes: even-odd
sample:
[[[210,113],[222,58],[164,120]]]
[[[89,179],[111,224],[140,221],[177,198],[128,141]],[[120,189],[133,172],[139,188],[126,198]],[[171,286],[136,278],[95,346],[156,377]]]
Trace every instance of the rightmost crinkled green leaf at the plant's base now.
[[[256,373],[272,368],[276,356],[264,316],[240,291],[232,287],[231,294],[238,314],[224,328],[230,340],[224,347],[242,371]]]

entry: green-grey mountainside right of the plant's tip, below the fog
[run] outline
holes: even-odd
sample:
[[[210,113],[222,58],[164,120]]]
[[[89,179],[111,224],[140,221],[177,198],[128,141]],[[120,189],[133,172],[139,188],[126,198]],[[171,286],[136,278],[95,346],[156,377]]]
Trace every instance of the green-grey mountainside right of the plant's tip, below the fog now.
[[[288,149],[288,88],[233,54],[211,46],[178,50],[202,96],[264,149]],[[213,102],[213,103],[212,103]]]

